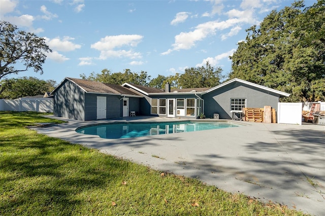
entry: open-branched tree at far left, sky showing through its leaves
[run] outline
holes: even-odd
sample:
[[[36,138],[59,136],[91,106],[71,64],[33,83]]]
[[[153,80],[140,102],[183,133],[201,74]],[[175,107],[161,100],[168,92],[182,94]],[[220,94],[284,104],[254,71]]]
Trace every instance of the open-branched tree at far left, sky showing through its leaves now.
[[[16,25],[0,21],[0,80],[8,74],[18,74],[29,68],[43,74],[45,52],[52,52],[44,38],[18,30]],[[14,64],[21,62],[19,68]],[[17,66],[18,67],[18,66]]]

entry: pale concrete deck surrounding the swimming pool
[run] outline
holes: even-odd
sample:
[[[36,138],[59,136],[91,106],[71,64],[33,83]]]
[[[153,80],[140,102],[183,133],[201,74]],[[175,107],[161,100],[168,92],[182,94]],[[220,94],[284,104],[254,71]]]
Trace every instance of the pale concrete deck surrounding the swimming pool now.
[[[79,134],[75,129],[113,120],[51,118],[68,123],[32,129],[156,170],[199,178],[208,185],[263,202],[271,200],[313,215],[325,212],[324,125],[240,122],[247,126],[103,139]],[[179,119],[129,117],[119,121],[171,120]]]

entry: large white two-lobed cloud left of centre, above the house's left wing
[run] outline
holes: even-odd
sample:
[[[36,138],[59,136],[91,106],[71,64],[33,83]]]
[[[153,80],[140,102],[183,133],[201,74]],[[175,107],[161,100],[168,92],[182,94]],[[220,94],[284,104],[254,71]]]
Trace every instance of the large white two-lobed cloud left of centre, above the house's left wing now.
[[[101,41],[92,44],[90,47],[101,51],[100,59],[107,59],[109,57],[128,57],[131,59],[141,58],[141,53],[133,50],[117,49],[122,47],[136,47],[143,36],[138,34],[121,34],[106,36]]]

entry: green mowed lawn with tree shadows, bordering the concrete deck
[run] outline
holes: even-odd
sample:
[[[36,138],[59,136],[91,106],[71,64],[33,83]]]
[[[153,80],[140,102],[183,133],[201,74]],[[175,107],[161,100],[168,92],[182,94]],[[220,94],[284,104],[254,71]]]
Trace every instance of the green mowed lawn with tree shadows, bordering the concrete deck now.
[[[303,215],[25,128],[0,112],[0,215]]]

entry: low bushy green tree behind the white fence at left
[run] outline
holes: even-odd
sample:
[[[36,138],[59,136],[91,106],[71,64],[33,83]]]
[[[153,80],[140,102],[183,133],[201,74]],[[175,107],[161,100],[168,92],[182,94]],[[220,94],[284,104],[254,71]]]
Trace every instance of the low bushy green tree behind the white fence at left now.
[[[54,80],[39,80],[35,77],[5,79],[0,82],[0,98],[16,99],[51,92],[56,86]]]

